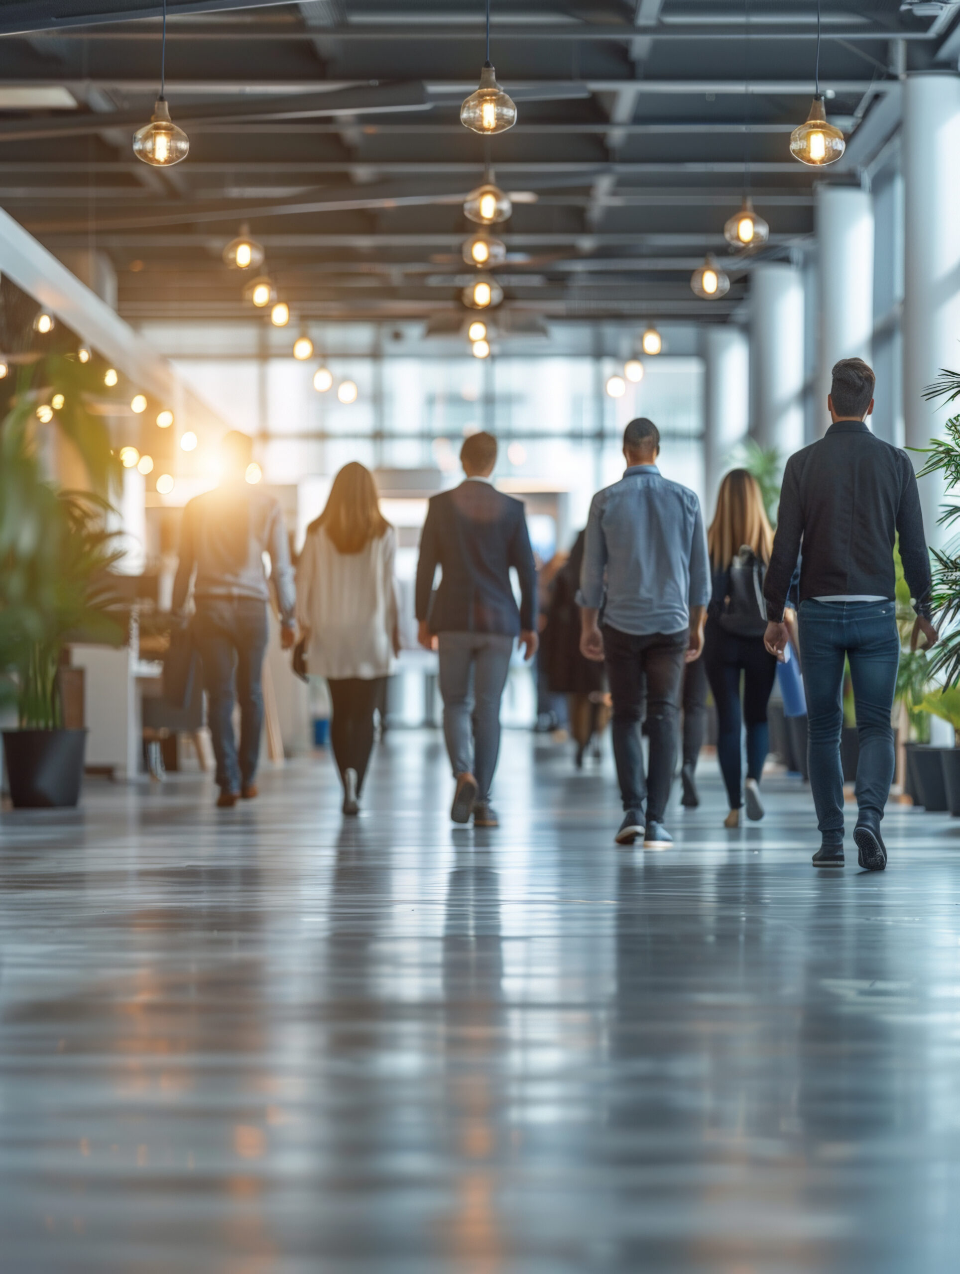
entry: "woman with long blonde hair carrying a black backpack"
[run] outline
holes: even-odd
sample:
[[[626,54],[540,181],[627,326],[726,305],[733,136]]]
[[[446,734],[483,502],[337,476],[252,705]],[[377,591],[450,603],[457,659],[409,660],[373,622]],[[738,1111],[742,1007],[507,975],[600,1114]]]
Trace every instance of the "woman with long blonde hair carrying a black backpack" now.
[[[764,646],[764,573],[774,533],[760,485],[746,469],[732,469],[720,483],[706,543],[713,598],[706,617],[704,664],[716,705],[716,754],[731,806],[724,826],[738,827],[745,796],[747,818],[764,817],[760,778],[769,748],[766,705],[776,676],[776,659]],[[746,785],[741,722],[747,727]]]

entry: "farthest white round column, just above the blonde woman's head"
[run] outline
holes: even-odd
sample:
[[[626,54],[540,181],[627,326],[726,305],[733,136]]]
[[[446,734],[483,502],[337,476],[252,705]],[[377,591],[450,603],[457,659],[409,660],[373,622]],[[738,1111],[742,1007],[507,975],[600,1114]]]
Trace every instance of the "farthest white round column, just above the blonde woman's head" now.
[[[704,517],[710,521],[731,452],[750,427],[750,341],[732,324],[705,327],[704,352]]]

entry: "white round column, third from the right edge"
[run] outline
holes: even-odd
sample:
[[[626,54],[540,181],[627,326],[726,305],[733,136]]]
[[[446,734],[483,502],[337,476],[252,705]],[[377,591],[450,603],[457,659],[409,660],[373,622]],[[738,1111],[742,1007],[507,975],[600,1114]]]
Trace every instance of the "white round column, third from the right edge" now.
[[[803,446],[803,280],[779,261],[750,280],[750,432],[787,460]]]

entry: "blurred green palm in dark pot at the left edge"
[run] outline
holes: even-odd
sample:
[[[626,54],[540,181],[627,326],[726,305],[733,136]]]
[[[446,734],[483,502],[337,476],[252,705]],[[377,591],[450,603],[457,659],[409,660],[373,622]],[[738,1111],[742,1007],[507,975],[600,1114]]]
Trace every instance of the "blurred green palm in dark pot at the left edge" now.
[[[71,636],[122,640],[108,573],[121,554],[106,498],[59,490],[45,474],[25,376],[0,423],[0,693],[15,701],[19,725],[4,730],[4,757],[14,805],[75,805],[85,731],[62,726],[57,668]],[[88,473],[108,476],[106,429],[82,414],[76,395],[65,432],[89,455]]]

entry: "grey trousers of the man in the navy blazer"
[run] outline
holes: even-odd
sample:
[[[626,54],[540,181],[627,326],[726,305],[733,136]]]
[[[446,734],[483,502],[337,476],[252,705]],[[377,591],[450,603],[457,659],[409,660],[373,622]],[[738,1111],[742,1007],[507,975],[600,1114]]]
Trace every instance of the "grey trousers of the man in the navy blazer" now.
[[[504,633],[440,633],[444,738],[454,775],[472,773],[477,799],[490,799],[500,752],[500,699],[514,638]]]

